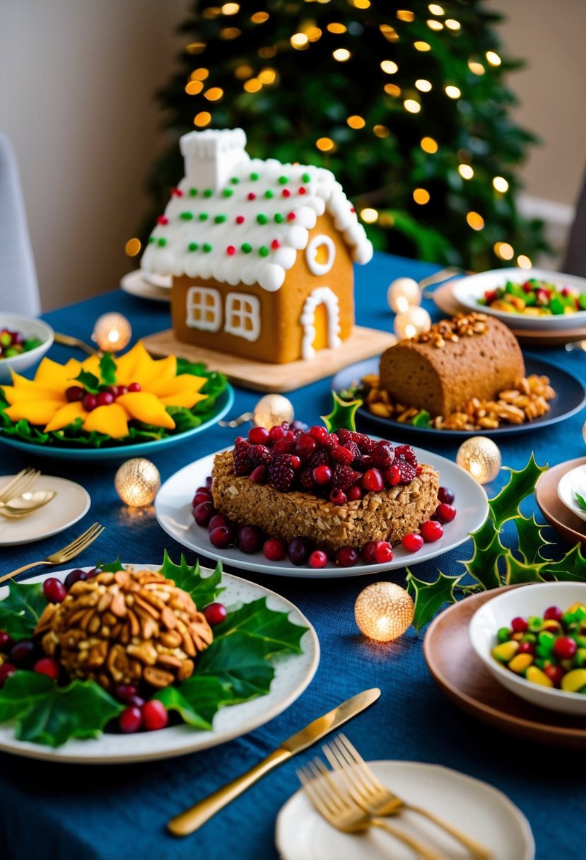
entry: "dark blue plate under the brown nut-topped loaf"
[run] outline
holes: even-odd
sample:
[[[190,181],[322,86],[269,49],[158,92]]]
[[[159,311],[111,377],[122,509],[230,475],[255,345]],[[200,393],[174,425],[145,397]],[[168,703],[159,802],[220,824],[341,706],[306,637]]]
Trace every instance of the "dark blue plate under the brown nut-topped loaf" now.
[[[353,388],[369,373],[378,373],[379,360],[380,356],[348,365],[333,378],[333,390],[341,391]],[[540,430],[541,427],[549,427],[550,424],[565,421],[566,418],[576,415],[583,408],[584,403],[586,403],[586,388],[580,379],[572,373],[563,371],[561,367],[556,365],[550,365],[547,361],[534,359],[533,356],[529,355],[525,356],[525,368],[528,376],[536,373],[538,376],[549,377],[550,384],[556,390],[557,396],[550,400],[549,412],[546,412],[546,415],[541,415],[540,418],[534,418],[532,421],[525,421],[523,424],[505,424],[504,427],[497,427],[496,430],[487,430],[484,427],[482,430],[436,430],[435,427],[413,427],[412,424],[400,424],[399,421],[394,421],[392,418],[373,415],[363,406],[358,408],[357,415],[360,415],[365,421],[372,421],[373,424],[384,427],[388,434],[392,434],[396,430],[403,434],[408,432],[418,436],[435,436],[436,439],[449,440],[468,439],[470,436],[479,435],[495,437],[509,436],[511,433],[528,433],[530,430]]]

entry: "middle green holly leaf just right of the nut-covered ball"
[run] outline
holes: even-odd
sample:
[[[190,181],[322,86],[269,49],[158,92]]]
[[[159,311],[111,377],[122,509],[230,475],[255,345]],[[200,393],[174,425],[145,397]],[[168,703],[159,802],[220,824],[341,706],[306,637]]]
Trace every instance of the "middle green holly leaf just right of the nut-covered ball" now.
[[[235,631],[231,636],[214,639],[198,658],[196,677],[216,678],[228,685],[232,702],[247,702],[265,696],[271,688],[275,670],[265,659],[261,639]]]

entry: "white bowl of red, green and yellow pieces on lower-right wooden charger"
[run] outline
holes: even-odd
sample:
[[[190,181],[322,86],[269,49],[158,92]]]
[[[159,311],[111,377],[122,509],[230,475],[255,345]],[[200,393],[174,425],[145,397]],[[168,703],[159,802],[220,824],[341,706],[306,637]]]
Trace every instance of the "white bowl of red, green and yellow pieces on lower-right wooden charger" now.
[[[559,606],[565,611],[576,602],[586,604],[586,582],[539,582],[512,588],[488,600],[474,612],[468,636],[485,667],[507,690],[541,708],[586,716],[586,696],[583,693],[568,693],[532,684],[498,663],[491,654],[497,645],[497,630],[510,627],[513,618],[543,615],[548,606]]]

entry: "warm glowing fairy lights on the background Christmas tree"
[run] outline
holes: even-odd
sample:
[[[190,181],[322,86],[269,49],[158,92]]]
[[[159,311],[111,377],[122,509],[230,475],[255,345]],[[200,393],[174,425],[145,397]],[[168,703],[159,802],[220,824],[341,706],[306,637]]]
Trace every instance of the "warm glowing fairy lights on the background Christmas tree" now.
[[[330,3],[330,0],[304,0],[304,2],[308,3],[308,5],[311,5],[312,3],[327,5],[327,3]],[[355,9],[369,9],[371,0],[348,0],[348,3]],[[430,3],[427,10],[431,17],[425,21],[425,25],[434,33],[445,31],[447,34],[457,34],[461,30],[461,22],[455,20],[455,18],[446,17],[447,13],[440,4]],[[208,20],[220,17],[225,19],[225,26],[220,29],[218,35],[221,40],[230,41],[235,40],[242,35],[242,30],[240,28],[230,26],[230,17],[232,15],[236,15],[240,11],[240,3],[230,2],[223,3],[221,6],[208,6],[201,11],[201,16]],[[415,20],[415,13],[410,9],[398,9],[396,17],[400,22],[409,23]],[[250,21],[255,25],[262,25],[266,23],[269,18],[270,15],[268,12],[255,12],[250,16]],[[345,24],[333,21],[327,23],[325,27],[318,27],[314,21],[308,20],[301,23],[298,32],[290,36],[288,43],[279,43],[278,46],[268,45],[259,48],[259,58],[262,60],[270,60],[277,55],[279,50],[289,48],[292,48],[295,51],[308,51],[312,44],[320,40],[324,34],[324,29],[326,29],[329,34],[334,35],[343,36],[348,33],[352,34],[351,23],[346,26]],[[400,35],[390,24],[381,24],[379,29],[382,36],[390,44],[400,39]],[[186,46],[186,52],[195,57],[204,52],[206,46],[206,43],[203,41],[191,42]],[[422,39],[414,40],[412,42],[412,46],[417,52],[430,52],[432,50],[430,43]],[[346,63],[351,59],[351,57],[352,52],[347,47],[338,47],[333,49],[332,58],[337,63]],[[485,75],[490,71],[491,67],[497,68],[501,64],[502,59],[495,51],[486,51],[482,57],[473,56],[467,60],[468,70],[476,76]],[[394,76],[400,72],[399,65],[390,58],[383,59],[380,67],[385,76]],[[234,75],[237,80],[241,81],[242,89],[249,94],[259,93],[263,88],[270,87],[278,83],[278,71],[273,69],[270,64],[267,64],[259,71],[255,72],[252,65],[241,63],[235,67]],[[211,125],[214,103],[222,101],[225,95],[222,87],[210,85],[209,79],[210,70],[201,66],[191,72],[185,86],[187,95],[202,95],[206,101],[210,102],[210,109],[200,110],[193,117],[193,125],[197,129],[202,130]],[[461,98],[461,89],[456,86],[455,83],[443,83],[442,87],[443,93],[448,99],[455,101]],[[413,88],[417,90],[416,94],[413,94]],[[382,89],[385,94],[391,96],[393,99],[400,100],[405,96],[403,97],[402,107],[406,113],[409,114],[419,114],[422,107],[424,107],[424,94],[429,93],[435,88],[436,84],[426,78],[418,78],[415,82],[409,84],[408,87],[404,87],[403,89],[406,89],[406,93],[404,93],[399,84],[394,83],[392,80],[385,81],[385,83],[382,84]],[[367,125],[366,120],[359,114],[351,114],[345,121],[347,126],[353,130],[362,130]],[[376,124],[372,127],[372,133],[377,138],[387,138],[391,132],[388,126]],[[331,153],[337,149],[337,144],[333,138],[326,136],[316,137],[314,145],[318,151],[324,153]],[[427,135],[421,138],[419,145],[422,151],[430,157],[433,157],[438,151],[440,151],[440,144],[438,144],[436,139]],[[471,163],[473,161],[471,154],[467,151],[459,151],[456,153],[456,157],[459,158],[457,170],[461,178],[465,181],[474,181],[477,174],[473,163]],[[481,179],[480,181],[484,181],[484,179]],[[497,197],[503,197],[508,193],[509,181],[504,176],[494,176],[492,177],[491,182],[494,194]],[[430,191],[425,187],[415,187],[412,191],[412,199],[418,206],[426,206],[431,200]],[[363,207],[358,212],[358,215],[365,224],[378,223],[383,227],[390,227],[393,225],[394,219],[392,215],[386,212],[379,212],[374,206]],[[485,218],[483,218],[480,212],[470,210],[466,213],[465,218],[467,226],[471,230],[484,230]],[[132,238],[126,243],[125,252],[127,255],[135,256],[140,252],[140,250],[141,243],[137,238]],[[521,268],[531,268],[533,265],[527,255],[516,255],[515,249],[508,242],[498,241],[494,243],[492,250],[499,260],[513,261],[516,257],[516,265]]]

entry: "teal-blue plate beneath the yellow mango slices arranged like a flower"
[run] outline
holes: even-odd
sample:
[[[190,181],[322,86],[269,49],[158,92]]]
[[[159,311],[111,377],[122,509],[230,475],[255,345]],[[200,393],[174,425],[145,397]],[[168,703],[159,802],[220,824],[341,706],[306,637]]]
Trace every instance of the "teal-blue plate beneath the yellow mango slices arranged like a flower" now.
[[[196,433],[201,433],[207,427],[217,424],[234,404],[234,389],[230,384],[217,398],[217,412],[208,421],[204,421],[199,427],[192,427],[185,433],[177,433],[176,436],[165,436],[164,439],[153,439],[152,442],[139,442],[137,445],[119,445],[116,448],[60,448],[49,445],[34,445],[32,442],[24,442],[15,439],[0,431],[0,442],[26,451],[27,454],[39,454],[40,457],[52,457],[63,460],[126,460],[131,457],[149,457],[158,454],[162,448],[170,448],[172,445],[180,445],[187,439],[191,439]]]

